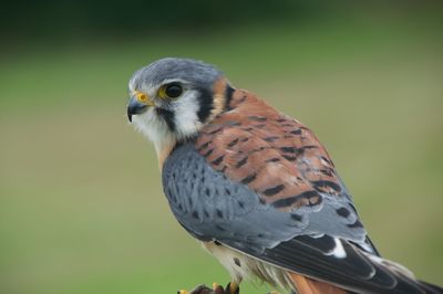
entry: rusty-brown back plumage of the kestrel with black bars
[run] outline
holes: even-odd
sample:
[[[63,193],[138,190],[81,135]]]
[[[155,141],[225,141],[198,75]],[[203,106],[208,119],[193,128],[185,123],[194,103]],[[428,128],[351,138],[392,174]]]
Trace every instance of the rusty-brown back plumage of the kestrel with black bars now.
[[[196,140],[214,169],[281,210],[318,204],[319,191],[340,192],[328,153],[300,122],[244,90],[234,93],[229,108]]]

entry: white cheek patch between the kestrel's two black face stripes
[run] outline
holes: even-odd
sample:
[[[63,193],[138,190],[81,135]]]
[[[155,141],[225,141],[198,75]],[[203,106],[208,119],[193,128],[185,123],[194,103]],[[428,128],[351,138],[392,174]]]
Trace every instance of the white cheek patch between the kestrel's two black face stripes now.
[[[195,135],[202,127],[197,113],[199,103],[197,99],[198,92],[195,90],[187,91],[182,97],[174,102],[174,122],[178,138],[186,138]]]

